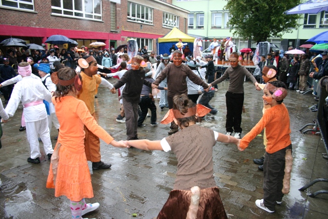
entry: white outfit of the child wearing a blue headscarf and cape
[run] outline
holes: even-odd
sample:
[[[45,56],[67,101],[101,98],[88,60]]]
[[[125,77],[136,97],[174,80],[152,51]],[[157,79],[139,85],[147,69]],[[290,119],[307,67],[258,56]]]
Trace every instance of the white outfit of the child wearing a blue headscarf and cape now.
[[[42,77],[41,80],[43,84],[46,86],[46,88],[50,91],[50,93],[56,91],[56,85],[51,81],[50,74],[46,74],[46,76]],[[52,102],[48,102],[48,103],[49,103],[49,112],[50,112],[50,115],[48,115],[48,125],[49,125],[49,133],[51,133],[51,128],[52,128],[51,122],[53,123],[56,129],[59,129],[59,122],[56,116],[55,106],[53,105]]]

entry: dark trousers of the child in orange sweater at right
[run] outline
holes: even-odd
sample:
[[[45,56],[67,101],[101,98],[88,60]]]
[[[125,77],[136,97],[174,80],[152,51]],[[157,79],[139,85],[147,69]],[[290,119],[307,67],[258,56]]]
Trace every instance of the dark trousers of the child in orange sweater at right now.
[[[292,149],[292,145],[272,154],[265,152],[263,163],[263,191],[264,206],[274,211],[276,202],[281,202],[283,193],[282,180],[285,174],[286,149]]]

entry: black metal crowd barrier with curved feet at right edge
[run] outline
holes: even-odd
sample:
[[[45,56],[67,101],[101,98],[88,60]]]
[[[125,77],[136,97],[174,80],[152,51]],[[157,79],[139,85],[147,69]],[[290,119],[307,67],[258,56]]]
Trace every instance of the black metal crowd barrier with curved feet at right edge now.
[[[320,134],[321,134],[321,138],[326,150],[326,153],[328,154],[328,134],[327,134],[327,130],[328,130],[328,105],[326,104],[325,98],[328,96],[327,93],[327,86],[328,86],[328,76],[325,76],[323,78],[321,78],[320,82],[320,89],[321,89],[321,94],[319,97],[319,102],[318,102],[318,112],[317,112],[317,120],[316,120],[316,126],[319,128],[320,130]],[[310,186],[313,186],[314,184],[318,183],[318,182],[327,182],[328,183],[328,178],[317,178],[316,180],[312,181],[309,184],[306,184],[305,186],[303,186],[302,188],[300,188],[300,191],[304,191],[305,189],[308,189]],[[314,193],[310,193],[309,196],[310,197],[315,197],[318,194],[322,194],[322,193],[326,193],[328,194],[328,190],[319,190],[316,191]]]

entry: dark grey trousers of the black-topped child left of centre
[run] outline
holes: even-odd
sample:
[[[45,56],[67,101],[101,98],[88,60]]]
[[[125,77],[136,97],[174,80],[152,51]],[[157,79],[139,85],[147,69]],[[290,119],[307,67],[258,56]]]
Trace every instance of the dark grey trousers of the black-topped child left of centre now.
[[[131,103],[123,98],[123,105],[128,140],[132,140],[134,137],[138,136],[138,103]]]

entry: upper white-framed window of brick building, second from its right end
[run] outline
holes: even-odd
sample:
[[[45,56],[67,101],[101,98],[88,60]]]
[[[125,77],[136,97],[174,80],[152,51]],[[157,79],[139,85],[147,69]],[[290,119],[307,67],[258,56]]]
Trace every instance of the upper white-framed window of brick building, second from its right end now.
[[[132,16],[133,14],[133,8],[131,5],[135,5],[135,16]],[[136,22],[140,24],[148,24],[148,25],[153,25],[154,24],[154,9],[148,6],[144,6],[141,4],[137,4],[134,2],[129,2],[128,1],[128,9],[127,9],[127,17],[128,17],[128,22]],[[138,8],[139,7],[139,8]],[[148,18],[146,9],[148,9]],[[142,13],[144,11],[144,13]],[[139,16],[139,17],[138,17]]]

